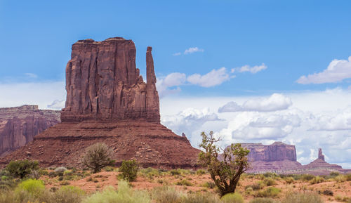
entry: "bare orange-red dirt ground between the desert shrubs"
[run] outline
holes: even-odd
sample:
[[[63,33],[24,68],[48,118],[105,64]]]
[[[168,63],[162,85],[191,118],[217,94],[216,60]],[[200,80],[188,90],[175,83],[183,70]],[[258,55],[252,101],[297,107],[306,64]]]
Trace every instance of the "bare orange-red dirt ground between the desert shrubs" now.
[[[91,194],[95,191],[103,190],[107,187],[117,188],[119,178],[119,172],[114,171],[102,171],[100,173],[89,174],[86,177],[77,177],[74,180],[68,181],[65,180],[65,177],[62,181],[59,181],[58,176],[50,178],[49,176],[41,176],[41,180],[46,184],[46,188],[59,188],[61,185],[74,185],[82,190],[86,191],[88,194]],[[309,181],[293,181],[293,183],[286,183],[284,178],[273,178],[274,185],[267,186],[265,185],[261,190],[265,190],[269,187],[279,188],[281,191],[279,195],[271,197],[272,199],[282,199],[284,195],[288,192],[319,192],[321,193],[322,199],[325,202],[343,202],[344,198],[351,198],[351,181],[336,182],[333,179],[326,180],[323,183],[311,184]],[[184,183],[179,183],[185,181]],[[239,192],[242,197],[244,197],[246,202],[249,202],[250,199],[253,199],[256,195],[255,192],[247,192],[247,185],[253,185],[263,182],[263,176],[250,176],[244,175],[239,181],[239,186],[237,187],[237,192]],[[206,185],[207,183],[207,185]],[[177,190],[183,192],[213,192],[216,193],[214,188],[208,186],[208,183],[211,183],[211,178],[209,174],[177,174],[172,175],[171,173],[162,173],[162,174],[145,174],[138,173],[138,178],[136,181],[131,182],[131,186],[135,190],[152,190],[156,187],[161,187],[163,185],[168,185],[176,188]],[[324,190],[331,190],[333,195],[324,195]]]

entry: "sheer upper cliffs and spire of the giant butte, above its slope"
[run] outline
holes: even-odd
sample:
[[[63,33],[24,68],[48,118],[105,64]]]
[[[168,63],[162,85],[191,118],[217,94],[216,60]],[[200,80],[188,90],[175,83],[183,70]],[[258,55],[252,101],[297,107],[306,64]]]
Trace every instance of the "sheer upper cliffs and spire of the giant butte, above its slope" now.
[[[72,45],[66,67],[67,99],[62,122],[145,120],[159,123],[152,48],[147,48],[147,83],[135,66],[135,45],[121,37]]]

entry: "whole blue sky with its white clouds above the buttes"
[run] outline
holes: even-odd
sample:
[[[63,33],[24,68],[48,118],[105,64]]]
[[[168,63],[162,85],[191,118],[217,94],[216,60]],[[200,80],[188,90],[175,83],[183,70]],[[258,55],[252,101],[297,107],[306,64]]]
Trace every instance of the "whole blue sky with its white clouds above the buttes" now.
[[[72,44],[124,37],[135,42],[141,74],[153,47],[162,122],[192,145],[214,130],[223,145],[282,140],[300,146],[300,162],[322,147],[329,162],[351,167],[350,8],[346,0],[0,0],[0,105],[59,109]]]

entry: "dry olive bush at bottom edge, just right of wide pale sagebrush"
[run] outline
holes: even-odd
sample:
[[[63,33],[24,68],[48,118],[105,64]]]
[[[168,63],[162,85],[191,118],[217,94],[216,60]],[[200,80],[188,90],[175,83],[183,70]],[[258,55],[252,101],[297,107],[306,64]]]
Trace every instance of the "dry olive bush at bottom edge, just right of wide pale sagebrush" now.
[[[182,192],[167,186],[154,188],[152,191],[152,199],[156,203],[179,203],[183,196]]]

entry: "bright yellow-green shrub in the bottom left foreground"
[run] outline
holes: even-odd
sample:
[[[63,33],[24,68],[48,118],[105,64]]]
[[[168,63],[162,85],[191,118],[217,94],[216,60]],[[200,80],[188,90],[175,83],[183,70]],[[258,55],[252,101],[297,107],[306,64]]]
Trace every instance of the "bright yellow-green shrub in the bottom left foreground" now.
[[[45,190],[43,181],[36,179],[28,179],[23,181],[15,188],[15,194],[20,195],[21,193],[27,192],[32,197],[40,197]]]

